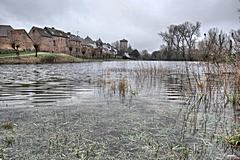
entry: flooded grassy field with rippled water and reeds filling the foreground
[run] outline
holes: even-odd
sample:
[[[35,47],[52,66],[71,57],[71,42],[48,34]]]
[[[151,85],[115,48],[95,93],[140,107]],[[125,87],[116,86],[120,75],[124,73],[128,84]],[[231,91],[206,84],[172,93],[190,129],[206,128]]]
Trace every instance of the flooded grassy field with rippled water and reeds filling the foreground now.
[[[239,156],[224,142],[239,124],[231,76],[217,81],[198,63],[3,65],[0,72],[0,159]]]

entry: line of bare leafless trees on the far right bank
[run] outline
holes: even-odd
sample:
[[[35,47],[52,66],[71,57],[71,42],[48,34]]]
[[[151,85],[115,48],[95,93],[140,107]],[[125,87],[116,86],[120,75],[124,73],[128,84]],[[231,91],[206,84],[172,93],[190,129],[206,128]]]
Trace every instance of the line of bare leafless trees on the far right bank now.
[[[170,25],[166,31],[159,33],[163,45],[159,51],[153,52],[152,58],[225,61],[239,56],[240,29],[225,33],[218,28],[211,28],[201,36],[200,27],[200,22]]]

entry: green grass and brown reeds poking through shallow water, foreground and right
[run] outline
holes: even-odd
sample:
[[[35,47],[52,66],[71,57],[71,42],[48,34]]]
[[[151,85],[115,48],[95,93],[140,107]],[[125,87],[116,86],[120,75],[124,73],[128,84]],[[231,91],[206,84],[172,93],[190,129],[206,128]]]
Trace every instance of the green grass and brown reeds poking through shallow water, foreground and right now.
[[[234,132],[239,123],[237,65],[186,67],[188,72],[185,66],[169,71],[141,63],[131,70],[103,71],[94,84],[106,93],[104,103],[18,110],[27,112],[28,118],[9,117],[19,127],[14,141],[8,138],[9,145],[4,145],[9,133],[0,136],[0,148],[7,148],[4,154],[12,159],[224,159],[233,154],[224,143],[238,145],[239,140]],[[177,93],[187,101],[177,108],[169,101],[158,106],[152,99],[143,100],[141,94],[159,91],[161,85],[169,85],[169,94],[179,85],[182,94]],[[134,99],[126,105],[109,98],[113,96]]]

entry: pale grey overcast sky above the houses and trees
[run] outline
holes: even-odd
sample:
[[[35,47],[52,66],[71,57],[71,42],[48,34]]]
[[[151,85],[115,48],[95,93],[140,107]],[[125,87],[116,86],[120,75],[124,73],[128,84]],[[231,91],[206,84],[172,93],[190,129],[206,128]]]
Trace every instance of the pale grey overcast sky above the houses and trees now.
[[[0,0],[0,24],[50,26],[105,42],[126,38],[134,48],[159,49],[157,33],[170,24],[239,28],[238,0]]]

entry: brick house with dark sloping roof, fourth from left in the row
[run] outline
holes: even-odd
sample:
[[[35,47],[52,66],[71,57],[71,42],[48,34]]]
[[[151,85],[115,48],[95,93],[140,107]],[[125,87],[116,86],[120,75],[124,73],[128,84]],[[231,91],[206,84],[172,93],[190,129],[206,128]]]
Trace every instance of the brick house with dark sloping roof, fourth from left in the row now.
[[[69,48],[68,43],[68,34],[64,31],[57,30],[54,27],[45,27],[44,28],[53,38],[53,52],[58,53],[68,53]]]

